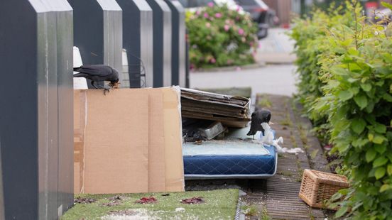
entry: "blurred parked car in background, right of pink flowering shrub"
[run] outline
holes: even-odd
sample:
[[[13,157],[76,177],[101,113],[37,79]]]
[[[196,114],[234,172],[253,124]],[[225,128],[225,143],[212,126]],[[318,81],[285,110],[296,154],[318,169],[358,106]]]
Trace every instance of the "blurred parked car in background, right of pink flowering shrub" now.
[[[278,16],[273,9],[270,9],[261,0],[234,0],[245,11],[251,13],[253,20],[258,23],[258,38],[265,38],[268,35],[268,28],[279,23]]]

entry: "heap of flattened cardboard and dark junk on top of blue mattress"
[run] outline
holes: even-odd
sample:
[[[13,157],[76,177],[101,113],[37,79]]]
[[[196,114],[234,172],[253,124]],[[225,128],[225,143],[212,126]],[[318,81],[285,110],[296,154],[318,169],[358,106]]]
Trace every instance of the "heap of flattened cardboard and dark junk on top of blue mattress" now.
[[[250,121],[250,100],[181,88],[185,142],[222,139],[227,127],[244,128]]]

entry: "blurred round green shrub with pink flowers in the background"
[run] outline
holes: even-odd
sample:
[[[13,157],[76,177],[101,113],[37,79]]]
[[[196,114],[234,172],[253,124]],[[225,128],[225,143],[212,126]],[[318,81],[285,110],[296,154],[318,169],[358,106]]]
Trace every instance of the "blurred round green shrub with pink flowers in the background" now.
[[[244,65],[254,62],[257,26],[248,14],[226,5],[187,12],[191,68]]]

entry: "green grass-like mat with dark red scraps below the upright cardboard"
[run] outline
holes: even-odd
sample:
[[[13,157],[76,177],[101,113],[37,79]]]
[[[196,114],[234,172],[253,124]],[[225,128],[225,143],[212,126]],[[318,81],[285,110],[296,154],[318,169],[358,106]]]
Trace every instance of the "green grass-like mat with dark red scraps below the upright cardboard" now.
[[[144,194],[80,194],[62,220],[234,219],[238,189]]]

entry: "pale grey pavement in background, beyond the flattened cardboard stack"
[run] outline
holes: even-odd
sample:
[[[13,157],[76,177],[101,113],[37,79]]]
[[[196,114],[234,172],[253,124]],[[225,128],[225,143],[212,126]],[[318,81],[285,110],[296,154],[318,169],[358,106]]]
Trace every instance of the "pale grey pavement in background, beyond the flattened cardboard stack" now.
[[[291,54],[293,40],[285,34],[288,29],[271,28],[268,36],[259,41],[256,55],[258,64],[253,67],[227,67],[190,73],[191,88],[251,87],[254,97],[258,93],[291,96],[295,87],[295,69]],[[261,65],[265,64],[267,65]],[[268,63],[270,65],[268,65]]]

